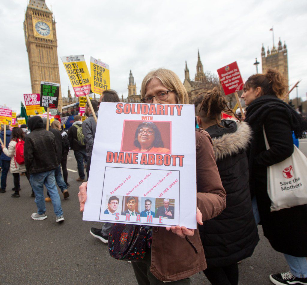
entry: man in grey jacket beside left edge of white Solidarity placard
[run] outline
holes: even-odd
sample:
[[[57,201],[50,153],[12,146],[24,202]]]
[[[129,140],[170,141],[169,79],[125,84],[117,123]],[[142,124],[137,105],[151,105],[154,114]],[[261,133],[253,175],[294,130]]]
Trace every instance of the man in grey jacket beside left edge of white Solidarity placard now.
[[[91,100],[94,112],[96,114],[96,117],[98,115],[98,102],[96,100]],[[85,139],[85,145],[86,145],[86,155],[87,155],[87,164],[86,164],[86,174],[87,174],[87,180],[90,173],[90,166],[91,166],[91,157],[92,157],[92,151],[94,146],[94,139],[95,139],[95,133],[96,133],[96,122],[93,117],[91,108],[89,107],[88,103],[85,105],[85,115],[87,115],[87,119],[82,123],[82,132]]]

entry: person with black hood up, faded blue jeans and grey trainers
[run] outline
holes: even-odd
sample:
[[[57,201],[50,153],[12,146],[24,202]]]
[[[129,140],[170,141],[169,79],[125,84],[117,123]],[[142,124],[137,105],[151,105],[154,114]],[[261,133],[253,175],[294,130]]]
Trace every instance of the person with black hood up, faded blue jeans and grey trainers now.
[[[54,170],[58,166],[56,159],[55,137],[43,128],[43,120],[39,116],[29,118],[30,134],[25,137],[24,158],[25,168],[30,174],[30,183],[35,193],[37,213],[31,215],[33,220],[45,220],[46,204],[44,185],[50,193],[56,222],[64,221],[61,200],[56,188]]]

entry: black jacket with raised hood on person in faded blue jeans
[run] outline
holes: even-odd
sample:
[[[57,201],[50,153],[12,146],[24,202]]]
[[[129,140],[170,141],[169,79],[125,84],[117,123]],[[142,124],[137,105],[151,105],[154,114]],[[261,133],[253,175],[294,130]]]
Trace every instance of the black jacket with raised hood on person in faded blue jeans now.
[[[31,173],[45,172],[55,169],[57,147],[52,132],[43,128],[43,120],[39,116],[29,118],[29,135],[25,137],[25,168]]]

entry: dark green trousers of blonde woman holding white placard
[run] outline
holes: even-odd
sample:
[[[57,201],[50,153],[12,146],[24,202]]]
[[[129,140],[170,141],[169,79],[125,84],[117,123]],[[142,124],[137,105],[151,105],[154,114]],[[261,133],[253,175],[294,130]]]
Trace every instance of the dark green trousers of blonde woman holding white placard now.
[[[131,262],[138,284],[165,285],[165,282],[157,279],[157,277],[150,272],[151,250],[147,249],[147,251],[148,252],[146,252],[145,258],[141,262]],[[190,281],[190,278],[185,278],[177,281],[166,282],[166,284],[189,285],[191,283]]]

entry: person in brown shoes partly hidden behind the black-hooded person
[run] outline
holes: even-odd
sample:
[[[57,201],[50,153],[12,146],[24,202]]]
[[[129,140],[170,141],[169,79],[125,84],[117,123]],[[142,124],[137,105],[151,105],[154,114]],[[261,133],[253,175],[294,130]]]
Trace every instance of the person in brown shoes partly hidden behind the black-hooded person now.
[[[44,128],[45,128],[46,125],[47,125],[47,118],[42,118],[42,119],[43,119]],[[67,185],[64,182],[64,179],[63,179],[63,176],[62,176],[62,173],[61,173],[61,161],[62,161],[62,157],[63,157],[63,150],[65,149],[65,142],[64,142],[64,139],[62,138],[62,135],[61,135],[59,130],[53,129],[49,126],[49,131],[52,132],[52,134],[54,135],[54,137],[56,139],[56,147],[58,149],[58,151],[56,153],[56,159],[57,159],[58,166],[54,170],[54,176],[56,178],[56,184],[61,189],[61,192],[64,196],[64,199],[66,199],[66,198],[69,197],[69,193],[68,193],[68,190],[67,190]],[[47,191],[47,195],[48,195],[48,197],[46,197],[45,201],[51,202],[48,191]]]

